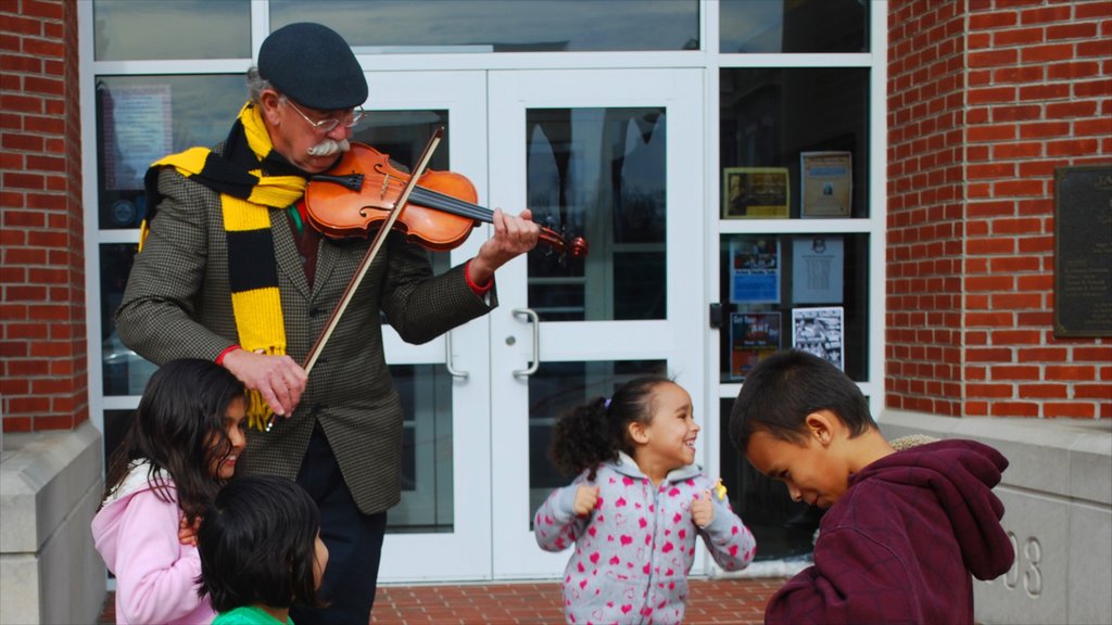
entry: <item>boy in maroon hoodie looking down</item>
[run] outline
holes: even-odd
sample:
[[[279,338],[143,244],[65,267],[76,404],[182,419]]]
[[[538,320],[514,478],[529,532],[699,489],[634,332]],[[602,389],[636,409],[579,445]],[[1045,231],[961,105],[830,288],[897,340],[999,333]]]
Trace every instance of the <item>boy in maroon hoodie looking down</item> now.
[[[814,566],[765,608],[765,623],[973,623],[972,574],[1012,565],[992,493],[1007,460],[973,440],[895,452],[857,385],[804,351],[745,379],[729,419],[738,450],[792,498],[830,508]]]

